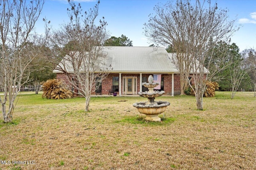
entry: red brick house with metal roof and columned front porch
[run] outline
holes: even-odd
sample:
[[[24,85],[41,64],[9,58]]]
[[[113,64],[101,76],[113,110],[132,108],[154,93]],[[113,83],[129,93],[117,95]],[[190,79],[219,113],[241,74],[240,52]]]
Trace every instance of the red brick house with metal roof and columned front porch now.
[[[164,47],[104,47],[107,55],[107,65],[112,66],[110,74],[102,80],[102,94],[108,94],[111,87],[122,94],[137,94],[146,91],[142,82],[147,82],[151,74],[161,75],[160,90],[172,96],[180,94],[180,76],[171,57],[175,53],[167,53]],[[62,79],[62,73],[57,73],[57,79]]]

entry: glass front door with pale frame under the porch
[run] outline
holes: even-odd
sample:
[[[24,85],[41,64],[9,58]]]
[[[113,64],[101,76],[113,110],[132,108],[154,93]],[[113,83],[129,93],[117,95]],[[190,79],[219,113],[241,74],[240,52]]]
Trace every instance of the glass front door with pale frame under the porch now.
[[[123,94],[137,94],[137,77],[123,77]]]

